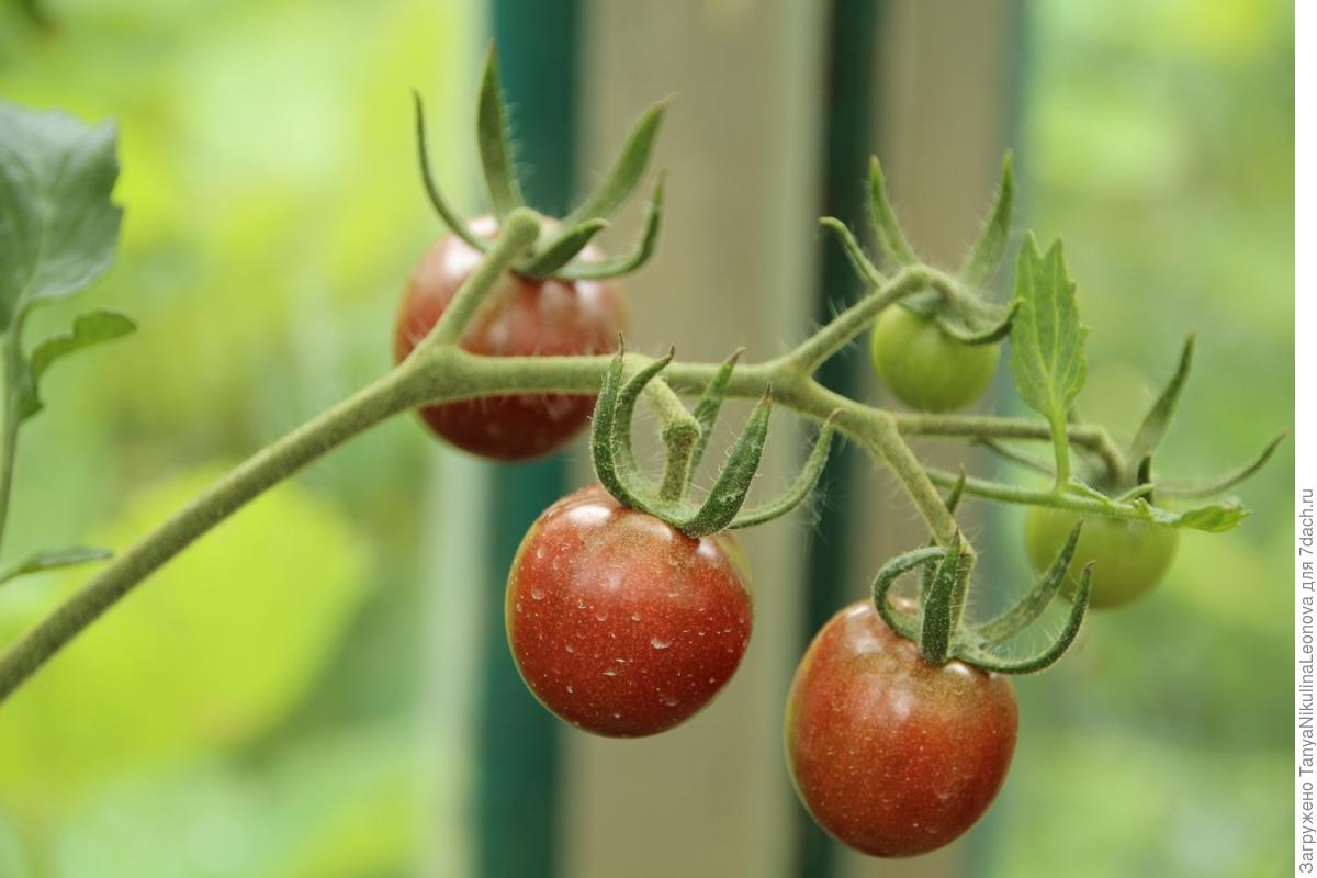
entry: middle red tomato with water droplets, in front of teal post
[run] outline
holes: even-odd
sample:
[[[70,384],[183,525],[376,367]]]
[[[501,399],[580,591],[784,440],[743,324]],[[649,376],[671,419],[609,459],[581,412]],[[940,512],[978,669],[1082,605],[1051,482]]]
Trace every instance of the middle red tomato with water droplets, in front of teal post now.
[[[595,735],[666,731],[731,679],[753,606],[739,541],[693,540],[601,486],[549,507],[507,581],[507,638],[522,679]]]

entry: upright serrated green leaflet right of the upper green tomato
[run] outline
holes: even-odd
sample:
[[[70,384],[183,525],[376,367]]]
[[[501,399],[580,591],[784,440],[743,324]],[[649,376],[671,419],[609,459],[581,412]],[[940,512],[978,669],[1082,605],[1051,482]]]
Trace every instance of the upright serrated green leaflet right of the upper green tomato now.
[[[1015,297],[1022,303],[1010,330],[1015,387],[1030,408],[1063,424],[1084,387],[1088,328],[1079,321],[1060,241],[1043,255],[1033,234],[1025,240],[1015,263]]]

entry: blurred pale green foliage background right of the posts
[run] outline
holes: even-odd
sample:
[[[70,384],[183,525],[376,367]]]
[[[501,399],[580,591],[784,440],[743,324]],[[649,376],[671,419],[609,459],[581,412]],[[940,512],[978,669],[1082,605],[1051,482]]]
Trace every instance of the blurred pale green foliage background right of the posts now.
[[[1188,332],[1160,453],[1218,473],[1293,419],[1293,32],[1267,0],[1029,5],[1027,222],[1067,241],[1092,328],[1079,408],[1127,441]],[[1151,598],[1094,615],[1022,681],[1019,752],[975,874],[1277,875],[1289,867],[1293,446],[1185,533]],[[1019,512],[1000,541],[1018,555]],[[1013,581],[1023,582],[1019,566]]]

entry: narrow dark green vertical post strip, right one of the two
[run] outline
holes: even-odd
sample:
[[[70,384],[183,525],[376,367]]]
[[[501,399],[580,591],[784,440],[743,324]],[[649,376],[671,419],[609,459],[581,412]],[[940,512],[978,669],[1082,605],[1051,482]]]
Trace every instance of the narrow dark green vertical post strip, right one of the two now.
[[[820,176],[823,204],[820,213],[835,216],[852,229],[867,229],[864,174],[873,150],[874,30],[880,24],[877,0],[834,0],[828,21],[826,58],[826,117]],[[818,263],[818,297],[815,320],[826,323],[836,309],[851,304],[863,288],[840,247],[822,238]],[[827,387],[853,396],[860,386],[864,365],[863,346],[852,345],[819,370]],[[807,548],[809,587],[805,592],[803,642],[809,640],[847,602],[853,591],[851,573],[852,488],[867,466],[856,459],[857,449],[849,444],[834,446],[820,486],[823,500],[818,504],[818,525]],[[795,874],[801,878],[830,878],[836,874],[836,842],[818,828],[809,816],[799,820],[801,845]]]

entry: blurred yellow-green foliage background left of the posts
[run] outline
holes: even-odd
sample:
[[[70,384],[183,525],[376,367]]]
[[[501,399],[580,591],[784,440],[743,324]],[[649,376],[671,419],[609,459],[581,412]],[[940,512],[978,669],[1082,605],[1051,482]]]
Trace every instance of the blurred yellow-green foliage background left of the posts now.
[[[141,324],[51,371],[7,557],[121,549],[387,367],[399,287],[439,230],[410,91],[436,120],[468,118],[477,12],[0,3],[0,95],[119,122],[121,250],[86,301]],[[456,132],[432,147],[460,183]],[[33,337],[71,315],[47,311]],[[419,782],[445,787],[433,773],[453,758],[423,769],[411,745],[432,448],[406,419],[362,437],[171,562],[22,690],[0,719],[0,875],[412,874]],[[0,640],[86,575],[9,586]]]

